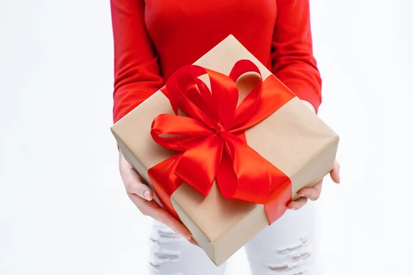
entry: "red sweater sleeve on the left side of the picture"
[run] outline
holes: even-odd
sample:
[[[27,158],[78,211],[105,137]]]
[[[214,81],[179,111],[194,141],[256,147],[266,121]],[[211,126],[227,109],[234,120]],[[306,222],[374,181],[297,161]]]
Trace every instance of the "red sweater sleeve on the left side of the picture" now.
[[[163,85],[145,28],[144,0],[111,0],[114,34],[114,122]]]

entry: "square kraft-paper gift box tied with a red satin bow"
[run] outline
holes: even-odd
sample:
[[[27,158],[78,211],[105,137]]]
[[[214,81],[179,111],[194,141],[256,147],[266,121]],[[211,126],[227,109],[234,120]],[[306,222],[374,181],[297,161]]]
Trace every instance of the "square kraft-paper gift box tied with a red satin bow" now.
[[[330,173],[339,143],[234,36],[179,69],[112,133],[215,265]]]

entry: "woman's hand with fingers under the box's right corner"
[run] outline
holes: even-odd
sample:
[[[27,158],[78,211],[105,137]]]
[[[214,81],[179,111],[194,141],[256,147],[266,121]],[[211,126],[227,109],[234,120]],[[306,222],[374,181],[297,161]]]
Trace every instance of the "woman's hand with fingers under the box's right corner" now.
[[[330,176],[332,181],[334,181],[336,184],[340,183],[340,164],[337,162],[337,160],[334,163],[334,167],[332,168],[332,171],[330,172]],[[293,209],[297,210],[301,207],[304,206],[304,204],[307,203],[308,199],[315,201],[319,199],[320,194],[321,194],[321,186],[323,184],[323,180],[319,181],[318,184],[316,184],[314,187],[311,188],[303,188],[297,192],[298,195],[301,197],[297,199],[296,201],[291,201],[288,203],[287,208],[288,209]]]

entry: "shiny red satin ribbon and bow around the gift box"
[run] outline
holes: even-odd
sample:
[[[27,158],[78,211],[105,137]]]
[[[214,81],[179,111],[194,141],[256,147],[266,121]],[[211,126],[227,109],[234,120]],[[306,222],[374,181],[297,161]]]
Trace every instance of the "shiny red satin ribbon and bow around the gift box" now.
[[[235,82],[247,72],[260,74],[248,60],[238,61],[229,76],[189,65],[167,82],[175,115],[158,115],[151,136],[179,153],[150,168],[148,174],[160,201],[177,218],[171,195],[182,182],[207,196],[216,179],[224,197],[264,204],[270,223],[284,214],[291,200],[290,179],[247,145],[245,130],[295,95],[271,75],[264,82],[261,78],[237,106]],[[211,91],[198,78],[204,74],[209,76]],[[178,115],[178,109],[187,116]]]

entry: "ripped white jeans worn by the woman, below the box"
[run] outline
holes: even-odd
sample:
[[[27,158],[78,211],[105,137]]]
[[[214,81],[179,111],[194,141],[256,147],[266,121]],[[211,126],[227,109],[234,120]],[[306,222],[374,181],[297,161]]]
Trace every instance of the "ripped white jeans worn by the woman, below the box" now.
[[[151,275],[224,275],[201,248],[155,223],[150,238]],[[252,275],[314,275],[315,206],[288,210],[245,245]],[[231,259],[229,259],[231,261]]]

